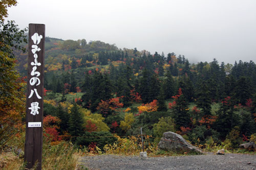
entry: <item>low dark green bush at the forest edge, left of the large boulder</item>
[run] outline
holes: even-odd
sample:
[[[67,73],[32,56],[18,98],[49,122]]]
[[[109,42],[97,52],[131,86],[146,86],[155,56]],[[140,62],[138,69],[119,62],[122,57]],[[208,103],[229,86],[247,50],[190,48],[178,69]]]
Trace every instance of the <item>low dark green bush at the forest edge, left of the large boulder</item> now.
[[[97,147],[103,151],[105,144],[113,144],[117,140],[110,132],[84,132],[83,136],[77,137],[75,144],[79,147],[89,146],[96,143]]]

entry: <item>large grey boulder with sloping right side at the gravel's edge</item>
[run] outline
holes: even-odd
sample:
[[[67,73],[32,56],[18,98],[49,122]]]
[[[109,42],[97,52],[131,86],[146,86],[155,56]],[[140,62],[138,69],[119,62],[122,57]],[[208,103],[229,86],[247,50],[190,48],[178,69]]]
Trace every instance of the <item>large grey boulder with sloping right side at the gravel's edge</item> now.
[[[174,151],[179,153],[198,153],[202,154],[202,151],[190,143],[188,143],[181,135],[174,132],[165,132],[163,137],[158,143],[158,148],[165,151]]]

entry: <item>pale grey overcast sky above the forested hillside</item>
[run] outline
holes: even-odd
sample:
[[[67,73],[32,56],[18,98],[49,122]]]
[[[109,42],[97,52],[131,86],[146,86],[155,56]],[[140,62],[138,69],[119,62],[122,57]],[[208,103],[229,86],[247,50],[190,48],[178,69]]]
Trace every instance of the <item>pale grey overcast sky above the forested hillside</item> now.
[[[18,0],[8,20],[46,36],[174,52],[189,62],[256,62],[255,0]]]

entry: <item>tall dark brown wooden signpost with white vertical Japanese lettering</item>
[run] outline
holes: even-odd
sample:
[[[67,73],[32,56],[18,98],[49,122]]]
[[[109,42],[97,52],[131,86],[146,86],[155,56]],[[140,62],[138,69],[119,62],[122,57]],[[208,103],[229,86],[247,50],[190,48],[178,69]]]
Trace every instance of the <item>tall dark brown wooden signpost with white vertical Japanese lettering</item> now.
[[[41,169],[45,25],[29,24],[25,156],[27,168]]]

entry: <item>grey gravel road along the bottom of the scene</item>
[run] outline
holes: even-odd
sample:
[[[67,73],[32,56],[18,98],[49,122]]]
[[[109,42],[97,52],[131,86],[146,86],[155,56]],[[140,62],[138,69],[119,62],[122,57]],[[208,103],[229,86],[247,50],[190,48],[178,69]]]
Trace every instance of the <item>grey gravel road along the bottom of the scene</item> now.
[[[84,156],[80,163],[89,169],[256,169],[256,155],[193,155],[148,157]]]

